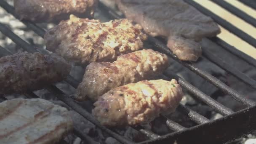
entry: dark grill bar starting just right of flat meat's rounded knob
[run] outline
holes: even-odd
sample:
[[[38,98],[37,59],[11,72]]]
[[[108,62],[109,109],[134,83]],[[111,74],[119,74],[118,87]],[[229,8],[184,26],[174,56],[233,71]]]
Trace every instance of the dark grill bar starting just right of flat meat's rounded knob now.
[[[238,69],[230,66],[226,61],[216,56],[216,54],[212,53],[211,51],[206,50],[203,48],[203,55],[212,61],[214,64],[222,67],[227,72],[231,73],[233,76],[237,77],[238,79],[242,80],[244,83],[251,85],[253,88],[256,88],[256,81],[253,80],[251,77],[248,77],[243,72],[240,72]]]

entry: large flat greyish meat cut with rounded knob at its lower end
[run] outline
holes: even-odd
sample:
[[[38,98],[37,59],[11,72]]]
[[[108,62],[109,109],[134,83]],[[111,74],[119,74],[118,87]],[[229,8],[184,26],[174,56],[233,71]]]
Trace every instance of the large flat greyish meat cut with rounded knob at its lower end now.
[[[128,19],[151,36],[168,37],[168,47],[179,59],[196,61],[202,50],[198,41],[220,33],[218,25],[183,0],[116,0]]]

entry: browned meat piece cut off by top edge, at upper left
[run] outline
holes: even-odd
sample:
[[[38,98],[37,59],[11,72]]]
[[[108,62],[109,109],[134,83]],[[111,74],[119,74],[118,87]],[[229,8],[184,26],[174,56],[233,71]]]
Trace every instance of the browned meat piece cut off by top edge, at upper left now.
[[[20,19],[37,23],[69,19],[70,14],[81,18],[93,18],[98,0],[14,0],[14,8]]]

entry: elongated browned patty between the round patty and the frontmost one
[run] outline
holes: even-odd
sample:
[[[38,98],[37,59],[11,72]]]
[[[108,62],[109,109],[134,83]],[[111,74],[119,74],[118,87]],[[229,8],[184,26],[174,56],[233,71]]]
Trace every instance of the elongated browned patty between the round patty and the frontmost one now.
[[[93,62],[86,67],[83,82],[77,88],[77,100],[89,97],[96,101],[113,88],[150,79],[167,67],[168,57],[151,49],[119,56],[113,63]]]

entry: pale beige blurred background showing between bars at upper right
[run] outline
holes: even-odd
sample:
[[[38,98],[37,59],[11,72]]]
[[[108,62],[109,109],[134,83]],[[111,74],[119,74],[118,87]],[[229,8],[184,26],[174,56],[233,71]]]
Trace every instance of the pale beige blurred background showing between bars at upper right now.
[[[212,11],[218,16],[221,16],[223,19],[229,21],[229,23],[235,25],[239,29],[243,29],[244,32],[256,38],[256,28],[250,24],[247,24],[245,21],[233,15],[232,13],[229,13],[228,11],[216,5],[215,3],[211,2],[210,0],[194,0],[194,1],[196,1],[197,3],[200,3],[208,10]],[[224,0],[224,1],[230,3],[231,5],[234,5],[235,7],[239,8],[240,10],[244,11],[245,13],[247,13],[248,15],[256,19],[256,11],[244,5],[243,3],[239,2],[238,0]],[[241,40],[239,37],[233,35],[223,27],[221,27],[221,34],[218,36],[222,40],[229,43],[230,45],[235,46],[240,51],[243,51],[244,53],[256,59],[256,48],[249,45],[245,41]]]

